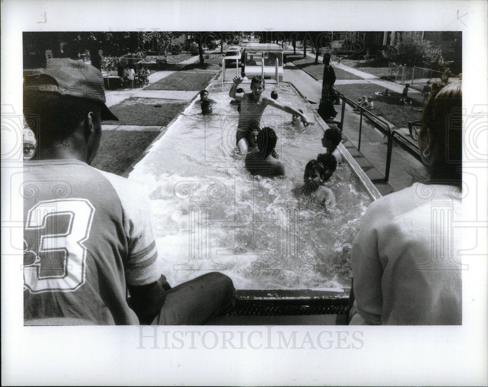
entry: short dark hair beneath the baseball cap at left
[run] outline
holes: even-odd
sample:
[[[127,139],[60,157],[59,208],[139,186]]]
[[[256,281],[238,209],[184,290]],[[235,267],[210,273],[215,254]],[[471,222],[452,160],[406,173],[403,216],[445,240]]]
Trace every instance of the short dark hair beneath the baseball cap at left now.
[[[66,140],[90,112],[95,114],[95,122],[101,121],[102,104],[85,98],[30,91],[24,92],[23,106],[27,115],[35,117],[27,122],[38,126],[30,129],[39,135],[43,147]]]

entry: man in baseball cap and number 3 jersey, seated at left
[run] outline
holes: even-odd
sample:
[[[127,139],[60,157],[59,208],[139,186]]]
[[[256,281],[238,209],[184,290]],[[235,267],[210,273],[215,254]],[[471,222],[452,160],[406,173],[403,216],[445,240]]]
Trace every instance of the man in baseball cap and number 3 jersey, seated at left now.
[[[55,58],[25,71],[24,110],[38,145],[24,162],[25,325],[202,325],[231,307],[221,273],[171,288],[146,194],[89,166],[102,120],[118,120],[98,69]]]

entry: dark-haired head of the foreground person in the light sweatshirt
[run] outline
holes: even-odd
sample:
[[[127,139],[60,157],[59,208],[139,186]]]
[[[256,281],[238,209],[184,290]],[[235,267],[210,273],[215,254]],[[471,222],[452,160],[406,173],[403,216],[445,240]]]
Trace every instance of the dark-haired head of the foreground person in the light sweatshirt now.
[[[436,152],[437,157],[430,170],[432,179],[454,180],[456,183],[462,180],[462,96],[461,81],[442,89],[434,83],[422,112],[421,122],[435,138],[436,147],[432,152]]]

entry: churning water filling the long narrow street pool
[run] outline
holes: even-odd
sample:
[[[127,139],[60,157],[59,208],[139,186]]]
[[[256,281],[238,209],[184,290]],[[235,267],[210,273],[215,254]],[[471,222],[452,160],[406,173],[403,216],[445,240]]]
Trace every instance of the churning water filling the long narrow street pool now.
[[[324,152],[324,130],[310,105],[289,83],[279,101],[302,109],[313,122],[295,128],[291,115],[267,107],[261,127],[273,126],[285,163],[284,178],[251,176],[236,152],[236,105],[230,84],[208,86],[213,114],[202,116],[199,100],[169,125],[134,167],[129,179],[145,186],[163,273],[178,284],[221,271],[236,289],[337,289],[350,286],[349,252],[371,202],[347,163],[331,181],[337,204],[325,209],[313,196],[297,199],[305,164]],[[241,87],[247,92],[249,84]]]

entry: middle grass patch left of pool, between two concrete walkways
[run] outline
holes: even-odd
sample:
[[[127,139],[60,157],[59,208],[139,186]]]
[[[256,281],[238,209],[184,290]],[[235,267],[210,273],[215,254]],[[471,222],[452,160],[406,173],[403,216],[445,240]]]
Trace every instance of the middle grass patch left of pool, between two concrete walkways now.
[[[110,110],[119,117],[119,121],[103,121],[103,124],[164,126],[180,114],[187,104],[187,102],[158,102],[156,98],[130,97],[110,107]]]

